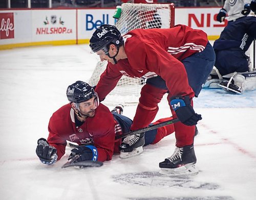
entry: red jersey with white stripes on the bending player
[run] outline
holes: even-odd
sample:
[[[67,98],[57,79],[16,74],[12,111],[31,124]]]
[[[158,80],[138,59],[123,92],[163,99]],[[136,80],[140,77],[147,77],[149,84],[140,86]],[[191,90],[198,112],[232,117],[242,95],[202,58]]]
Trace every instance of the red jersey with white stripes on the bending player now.
[[[114,89],[122,75],[133,78],[159,75],[172,96],[194,97],[181,61],[204,50],[208,42],[206,33],[179,24],[170,29],[136,29],[125,34],[124,40],[127,59],[115,65],[108,63],[96,87],[100,100]]]

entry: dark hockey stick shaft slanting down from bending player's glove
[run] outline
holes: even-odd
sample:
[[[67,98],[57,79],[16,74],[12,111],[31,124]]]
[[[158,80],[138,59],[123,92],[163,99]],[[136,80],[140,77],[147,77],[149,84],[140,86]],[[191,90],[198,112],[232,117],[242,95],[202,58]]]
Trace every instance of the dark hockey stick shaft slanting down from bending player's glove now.
[[[167,126],[167,125],[179,122],[179,121],[180,121],[179,119],[171,119],[171,120],[163,121],[161,123],[150,125],[148,127],[145,127],[145,128],[142,128],[142,129],[138,129],[136,131],[130,131],[130,132],[124,133],[122,135],[117,135],[115,139],[120,139],[120,138],[127,137],[129,135],[134,135],[134,134],[144,133],[146,131],[155,130],[155,129],[158,129],[160,127],[164,127],[164,126]]]

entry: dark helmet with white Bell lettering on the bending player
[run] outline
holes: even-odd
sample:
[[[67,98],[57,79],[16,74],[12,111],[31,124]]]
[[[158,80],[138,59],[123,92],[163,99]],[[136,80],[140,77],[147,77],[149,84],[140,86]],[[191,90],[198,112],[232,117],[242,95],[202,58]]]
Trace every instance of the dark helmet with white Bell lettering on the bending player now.
[[[109,55],[110,44],[115,44],[117,46],[117,53],[113,57]],[[93,36],[90,39],[90,47],[92,49],[92,53],[102,50],[105,53],[105,55],[114,59],[115,63],[117,63],[115,57],[119,52],[119,47],[122,45],[123,37],[121,36],[121,33],[115,26],[109,24],[101,25],[93,33]]]

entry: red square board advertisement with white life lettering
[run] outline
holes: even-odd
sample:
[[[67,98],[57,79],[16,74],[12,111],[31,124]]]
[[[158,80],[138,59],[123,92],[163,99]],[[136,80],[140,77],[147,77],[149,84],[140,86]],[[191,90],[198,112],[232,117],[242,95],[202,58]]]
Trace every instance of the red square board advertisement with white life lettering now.
[[[0,13],[0,39],[14,38],[13,13]]]

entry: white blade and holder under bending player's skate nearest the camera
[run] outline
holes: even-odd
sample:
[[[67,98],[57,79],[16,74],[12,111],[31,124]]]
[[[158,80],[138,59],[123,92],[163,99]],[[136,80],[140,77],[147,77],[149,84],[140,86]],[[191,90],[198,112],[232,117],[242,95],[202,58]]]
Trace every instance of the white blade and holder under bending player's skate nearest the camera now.
[[[199,173],[199,169],[195,167],[195,164],[186,164],[178,168],[161,168],[160,174],[164,176],[194,176]]]

